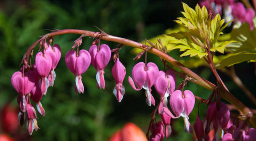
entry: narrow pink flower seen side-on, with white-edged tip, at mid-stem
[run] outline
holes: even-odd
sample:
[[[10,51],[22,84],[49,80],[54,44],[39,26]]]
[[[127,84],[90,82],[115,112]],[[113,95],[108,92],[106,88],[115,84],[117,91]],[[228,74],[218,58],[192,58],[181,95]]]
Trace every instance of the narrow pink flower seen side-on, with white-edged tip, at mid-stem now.
[[[126,70],[124,65],[119,61],[119,58],[116,59],[116,63],[112,68],[112,75],[115,79],[116,86],[114,88],[114,95],[116,96],[118,102],[121,102],[123,99],[123,95],[125,93],[125,88],[123,86],[124,77],[126,74]]]

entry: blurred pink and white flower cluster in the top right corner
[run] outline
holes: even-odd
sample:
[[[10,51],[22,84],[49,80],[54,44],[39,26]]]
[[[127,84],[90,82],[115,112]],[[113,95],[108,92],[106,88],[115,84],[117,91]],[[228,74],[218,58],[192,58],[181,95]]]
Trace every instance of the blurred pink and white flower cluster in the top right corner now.
[[[235,25],[240,27],[244,22],[249,23],[250,29],[253,30],[253,17],[255,12],[252,8],[245,8],[241,2],[235,0],[203,0],[199,5],[205,6],[209,13],[212,13],[212,18],[220,14],[225,19],[225,22],[235,20]],[[223,11],[223,13],[222,13]]]

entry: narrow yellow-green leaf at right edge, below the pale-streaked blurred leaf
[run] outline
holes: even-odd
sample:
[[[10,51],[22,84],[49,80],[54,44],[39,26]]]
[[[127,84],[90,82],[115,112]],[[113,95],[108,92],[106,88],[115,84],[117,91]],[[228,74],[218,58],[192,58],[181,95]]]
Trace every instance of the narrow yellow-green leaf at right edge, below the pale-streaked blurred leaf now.
[[[234,54],[228,54],[219,64],[216,64],[217,69],[221,69],[226,66],[232,66],[243,61],[256,61],[256,53],[238,52]]]

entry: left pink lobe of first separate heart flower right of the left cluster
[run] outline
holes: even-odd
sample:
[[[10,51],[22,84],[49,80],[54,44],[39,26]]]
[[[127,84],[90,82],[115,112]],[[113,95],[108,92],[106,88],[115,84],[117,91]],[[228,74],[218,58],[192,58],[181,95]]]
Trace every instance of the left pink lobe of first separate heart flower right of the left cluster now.
[[[76,75],[76,59],[76,51],[69,50],[65,56],[65,63],[74,75]]]

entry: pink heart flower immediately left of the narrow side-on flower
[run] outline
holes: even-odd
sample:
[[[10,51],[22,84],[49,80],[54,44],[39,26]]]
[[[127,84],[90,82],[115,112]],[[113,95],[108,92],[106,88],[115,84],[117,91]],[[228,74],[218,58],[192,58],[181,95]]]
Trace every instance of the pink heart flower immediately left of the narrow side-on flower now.
[[[102,44],[99,47],[92,45],[89,48],[89,52],[92,58],[92,65],[96,69],[96,80],[98,89],[105,89],[105,80],[104,80],[104,68],[108,65],[108,62],[111,58],[111,50],[108,45]]]

